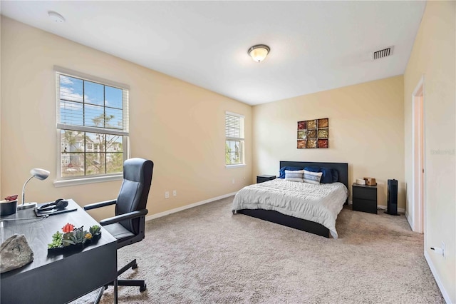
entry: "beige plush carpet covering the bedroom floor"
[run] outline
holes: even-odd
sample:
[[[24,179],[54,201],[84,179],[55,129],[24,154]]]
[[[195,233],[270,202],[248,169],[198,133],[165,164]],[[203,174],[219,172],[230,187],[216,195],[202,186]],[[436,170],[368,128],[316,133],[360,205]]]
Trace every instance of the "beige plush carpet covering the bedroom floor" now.
[[[445,303],[405,216],[344,208],[335,240],[233,216],[232,200],[147,222],[145,240],[118,255],[138,259],[125,278],[147,290],[120,287],[120,303]]]

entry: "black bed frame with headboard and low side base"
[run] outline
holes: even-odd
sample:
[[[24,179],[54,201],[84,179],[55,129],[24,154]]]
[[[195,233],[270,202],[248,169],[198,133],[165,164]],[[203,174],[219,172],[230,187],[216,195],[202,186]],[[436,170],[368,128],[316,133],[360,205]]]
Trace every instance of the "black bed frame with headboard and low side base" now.
[[[336,169],[339,173],[339,181],[343,183],[348,189],[348,163],[314,163],[310,161],[280,161],[279,169],[282,167],[307,167],[317,166]],[[347,198],[348,200],[348,198]],[[348,203],[348,201],[346,201]],[[246,216],[252,216],[254,218],[260,218],[264,221],[277,223],[283,226],[303,230],[306,232],[314,233],[316,235],[324,236],[329,238],[329,229],[325,226],[315,223],[312,221],[303,220],[301,218],[295,218],[294,216],[286,216],[285,214],[279,213],[274,210],[264,209],[242,209],[238,210],[237,213],[245,214]]]

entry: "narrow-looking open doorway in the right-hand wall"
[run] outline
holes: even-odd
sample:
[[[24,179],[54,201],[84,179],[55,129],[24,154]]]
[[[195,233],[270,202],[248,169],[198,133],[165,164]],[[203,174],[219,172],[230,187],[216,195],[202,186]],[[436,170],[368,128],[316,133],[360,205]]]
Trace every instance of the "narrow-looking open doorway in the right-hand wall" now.
[[[413,179],[412,179],[412,230],[424,233],[425,193],[424,193],[424,76],[412,94],[413,115]]]

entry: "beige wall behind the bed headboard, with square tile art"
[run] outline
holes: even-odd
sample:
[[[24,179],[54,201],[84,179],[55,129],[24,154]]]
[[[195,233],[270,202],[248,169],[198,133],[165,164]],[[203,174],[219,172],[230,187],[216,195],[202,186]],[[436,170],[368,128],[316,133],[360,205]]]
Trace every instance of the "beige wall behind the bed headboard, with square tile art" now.
[[[329,148],[296,148],[297,122],[326,117]],[[376,179],[379,205],[386,206],[387,180],[397,179],[405,208],[402,76],[254,106],[253,121],[254,176],[277,174],[279,161],[348,163],[350,185]]]

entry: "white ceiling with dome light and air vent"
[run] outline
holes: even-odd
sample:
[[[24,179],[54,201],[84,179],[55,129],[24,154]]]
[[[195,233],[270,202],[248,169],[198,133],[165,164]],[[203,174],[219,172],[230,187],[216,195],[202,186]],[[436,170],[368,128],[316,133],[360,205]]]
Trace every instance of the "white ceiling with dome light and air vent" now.
[[[4,16],[251,105],[403,74],[425,9],[425,1],[0,5]],[[247,55],[254,44],[271,48],[260,64]],[[388,46],[393,56],[370,60]]]

